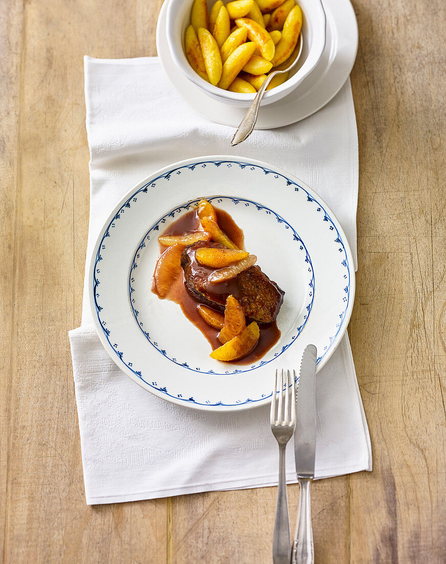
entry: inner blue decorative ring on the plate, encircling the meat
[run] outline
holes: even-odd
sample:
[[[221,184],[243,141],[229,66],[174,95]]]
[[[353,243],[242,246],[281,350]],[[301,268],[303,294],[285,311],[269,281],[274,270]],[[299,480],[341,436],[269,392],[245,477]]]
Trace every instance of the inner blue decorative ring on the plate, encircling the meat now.
[[[283,352],[285,352],[288,349],[288,347],[290,347],[293,344],[293,342],[295,342],[297,337],[304,330],[304,327],[307,324],[307,321],[310,317],[311,310],[313,309],[314,294],[315,294],[315,281],[314,281],[313,263],[311,263],[310,254],[309,254],[309,252],[308,252],[308,250],[305,246],[304,241],[302,241],[301,237],[298,235],[295,228],[293,228],[286,221],[286,219],[283,219],[283,217],[281,217],[279,214],[277,214],[274,210],[271,210],[270,208],[267,208],[266,206],[264,206],[262,204],[258,204],[258,202],[253,202],[252,200],[247,200],[246,198],[235,198],[233,196],[210,196],[210,197],[208,197],[209,201],[223,200],[223,199],[232,200],[235,205],[239,204],[240,202],[244,202],[245,205],[252,204],[252,205],[256,206],[258,211],[263,210],[263,211],[266,211],[267,214],[274,215],[277,222],[280,223],[280,224],[284,224],[286,229],[291,229],[291,231],[293,232],[293,241],[296,241],[297,243],[301,244],[301,246],[300,246],[301,250],[305,249],[305,262],[310,265],[308,267],[308,271],[311,273],[311,280],[310,280],[310,283],[309,283],[310,289],[309,289],[309,295],[308,295],[308,297],[310,298],[310,302],[306,305],[307,312],[304,315],[304,323],[302,323],[301,325],[296,327],[297,334],[293,335],[291,341],[287,345],[284,345],[282,347],[282,350],[275,352],[273,358],[271,358],[270,360],[260,360],[260,362],[253,364],[253,365],[251,365],[251,367],[246,368],[244,370],[236,369],[232,372],[229,371],[229,370],[227,370],[225,372],[216,372],[214,370],[209,370],[209,371],[205,372],[205,371],[200,370],[197,367],[191,368],[187,362],[181,363],[181,362],[178,362],[176,358],[171,358],[170,356],[168,356],[166,350],[160,349],[158,347],[158,343],[156,341],[152,341],[149,333],[147,331],[144,331],[144,329],[142,328],[143,327],[142,321],[140,321],[138,319],[139,311],[136,310],[135,307],[133,307],[133,303],[135,302],[135,300],[132,298],[132,293],[135,291],[132,288],[132,282],[133,282],[132,272],[138,266],[136,261],[137,261],[137,258],[140,257],[139,252],[142,248],[145,247],[145,241],[150,239],[150,233],[153,232],[153,231],[159,231],[160,227],[163,226],[163,224],[166,222],[167,218],[173,219],[175,217],[176,213],[180,214],[182,211],[193,209],[198,204],[199,199],[190,200],[190,201],[186,202],[185,204],[182,204],[181,206],[178,206],[177,208],[174,208],[173,210],[169,211],[166,215],[164,215],[162,218],[160,218],[157,221],[157,223],[154,223],[153,226],[150,227],[149,231],[146,232],[146,234],[142,238],[139,247],[136,249],[135,255],[133,255],[132,266],[130,268],[130,274],[128,275],[128,296],[129,296],[129,299],[130,299],[130,306],[132,308],[133,318],[135,318],[136,324],[138,325],[142,334],[144,334],[145,338],[149,341],[150,345],[153,346],[155,350],[160,352],[160,354],[162,354],[165,358],[167,358],[168,360],[171,360],[171,362],[173,362],[173,363],[175,363],[175,364],[177,364],[177,365],[179,365],[183,368],[191,370],[192,372],[199,372],[200,374],[212,374],[213,376],[230,376],[231,374],[240,374],[242,372],[250,372],[252,370],[256,370],[257,368],[264,366],[265,364],[273,362],[273,360],[276,360]],[[217,202],[217,203],[220,203],[220,202]]]

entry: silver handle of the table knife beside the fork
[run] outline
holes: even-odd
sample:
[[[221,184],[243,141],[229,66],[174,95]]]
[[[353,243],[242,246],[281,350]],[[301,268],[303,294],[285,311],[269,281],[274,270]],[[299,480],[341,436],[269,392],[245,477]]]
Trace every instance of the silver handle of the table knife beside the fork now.
[[[313,480],[299,478],[299,512],[292,564],[314,564],[313,527],[311,527],[310,489]]]

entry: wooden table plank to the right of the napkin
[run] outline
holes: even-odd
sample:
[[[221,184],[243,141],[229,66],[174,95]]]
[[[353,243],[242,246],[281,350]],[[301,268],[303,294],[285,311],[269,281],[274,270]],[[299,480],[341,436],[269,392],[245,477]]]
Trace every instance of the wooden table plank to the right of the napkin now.
[[[435,1],[355,8],[362,174],[350,337],[374,471],[349,478],[350,558],[444,562],[445,22]]]

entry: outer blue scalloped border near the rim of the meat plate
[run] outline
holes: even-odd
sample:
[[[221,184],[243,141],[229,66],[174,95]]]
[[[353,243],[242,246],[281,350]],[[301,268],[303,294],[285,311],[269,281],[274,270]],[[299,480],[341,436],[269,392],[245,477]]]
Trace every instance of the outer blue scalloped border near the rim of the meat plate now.
[[[136,190],[135,192],[133,192],[131,194],[130,197],[128,197],[128,199],[126,201],[123,202],[123,204],[119,207],[118,211],[114,214],[113,218],[111,218],[108,226],[105,229],[104,235],[102,235],[101,241],[98,245],[98,249],[95,255],[95,264],[93,266],[93,300],[95,303],[95,309],[96,309],[96,316],[97,316],[97,320],[99,321],[99,325],[101,327],[102,332],[104,333],[104,336],[106,338],[106,341],[108,341],[111,350],[113,350],[114,354],[119,358],[119,360],[121,361],[122,364],[124,364],[133,374],[135,374],[135,376],[137,376],[137,378],[139,378],[140,380],[144,381],[146,385],[148,385],[149,387],[153,388],[154,390],[157,390],[163,394],[166,394],[167,396],[171,397],[172,399],[175,400],[181,400],[181,402],[184,403],[192,403],[198,406],[206,406],[206,407],[217,407],[217,406],[225,406],[225,407],[237,407],[237,406],[241,406],[247,403],[257,403],[257,402],[261,402],[267,398],[270,398],[272,394],[262,394],[262,396],[258,399],[251,399],[251,398],[247,398],[246,400],[242,401],[240,400],[237,403],[234,404],[225,404],[223,402],[215,402],[215,403],[200,403],[195,401],[195,399],[193,397],[190,398],[182,398],[181,394],[179,395],[172,395],[170,393],[168,393],[166,386],[162,386],[159,387],[157,382],[151,382],[151,384],[149,382],[146,382],[144,380],[144,378],[142,378],[141,375],[141,371],[135,371],[132,368],[132,363],[126,363],[123,360],[123,352],[118,350],[118,345],[117,343],[114,343],[114,345],[111,344],[111,341],[109,339],[110,337],[110,330],[107,329],[105,327],[106,322],[105,321],[101,321],[100,318],[100,312],[102,311],[102,307],[99,305],[99,303],[97,303],[97,299],[100,297],[100,294],[97,293],[97,287],[100,284],[100,281],[97,279],[96,274],[100,274],[100,270],[98,270],[98,266],[99,266],[99,262],[102,260],[101,257],[101,250],[105,249],[104,245],[104,241],[107,237],[110,237],[110,229],[114,228],[114,222],[119,220],[121,218],[121,215],[125,212],[126,208],[130,208],[131,207],[131,202],[132,201],[136,201],[136,196],[139,193],[147,193],[149,187],[155,187],[155,183],[157,182],[157,180],[161,179],[161,178],[165,178],[166,180],[169,180],[171,175],[173,173],[176,174],[181,174],[181,169],[190,169],[190,170],[194,170],[197,166],[207,166],[207,165],[215,165],[215,166],[221,166],[221,165],[226,165],[226,166],[233,166],[233,165],[239,165],[240,168],[244,169],[246,167],[252,168],[252,170],[254,169],[260,169],[262,171],[264,171],[264,174],[268,175],[268,174],[272,174],[274,176],[274,178],[283,178],[284,180],[287,181],[287,186],[293,186],[294,190],[296,192],[298,192],[299,190],[302,190],[305,192],[306,196],[307,196],[307,202],[315,202],[316,205],[318,205],[318,208],[316,209],[316,211],[320,211],[323,212],[324,217],[323,217],[323,221],[324,222],[328,222],[329,223],[329,229],[331,231],[335,231],[336,232],[336,239],[334,239],[335,243],[338,243],[340,245],[340,247],[338,248],[339,252],[342,253],[343,255],[343,259],[341,262],[341,265],[344,266],[346,268],[347,274],[344,275],[344,278],[347,280],[346,282],[346,287],[344,288],[344,291],[346,293],[346,297],[344,297],[344,302],[345,302],[345,309],[339,314],[339,318],[340,321],[337,323],[336,327],[337,327],[337,331],[336,333],[329,338],[329,345],[324,347],[324,351],[323,354],[318,356],[317,359],[317,363],[320,363],[320,360],[322,360],[324,358],[325,355],[327,355],[327,352],[331,349],[331,347],[333,346],[334,341],[336,340],[336,337],[338,336],[339,332],[341,331],[341,327],[342,324],[344,323],[344,319],[345,316],[347,314],[347,310],[349,309],[349,303],[350,303],[350,284],[351,284],[351,275],[350,275],[350,267],[349,267],[349,259],[348,259],[348,255],[344,246],[344,243],[342,242],[341,239],[341,234],[338,231],[336,224],[334,224],[332,218],[330,217],[330,215],[327,213],[327,210],[325,210],[324,206],[322,204],[320,204],[320,202],[318,200],[316,200],[315,197],[313,197],[313,195],[310,194],[310,192],[308,192],[304,187],[302,187],[300,184],[298,184],[297,182],[295,182],[294,180],[289,179],[288,177],[286,177],[286,175],[276,171],[276,170],[271,170],[266,168],[265,166],[253,163],[253,162],[243,162],[243,161],[235,161],[235,160],[205,160],[205,161],[197,161],[197,162],[193,162],[190,164],[186,164],[186,165],[181,165],[178,166],[176,168],[173,168],[171,170],[169,170],[167,173],[163,173],[160,174],[158,177],[150,180],[149,182],[147,182],[146,184],[144,184],[143,186],[141,186],[138,190]],[[334,233],[333,233],[334,235]]]

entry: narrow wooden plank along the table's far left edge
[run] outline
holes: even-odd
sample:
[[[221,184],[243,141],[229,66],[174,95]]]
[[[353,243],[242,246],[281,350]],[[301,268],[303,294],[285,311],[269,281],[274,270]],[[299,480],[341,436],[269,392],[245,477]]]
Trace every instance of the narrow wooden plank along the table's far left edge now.
[[[11,374],[14,364],[15,341],[12,328],[15,323],[15,271],[16,201],[20,193],[20,170],[17,166],[17,131],[19,129],[20,92],[20,39],[21,10],[18,3],[0,5],[0,50],[7,53],[0,64],[0,550],[8,527],[8,453],[10,441]],[[14,33],[10,30],[14,29]]]

